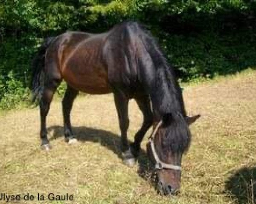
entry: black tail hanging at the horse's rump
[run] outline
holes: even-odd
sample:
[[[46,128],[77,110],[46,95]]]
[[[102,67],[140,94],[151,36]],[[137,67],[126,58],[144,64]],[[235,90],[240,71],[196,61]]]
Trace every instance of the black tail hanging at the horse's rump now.
[[[47,37],[41,47],[39,48],[36,56],[32,62],[32,102],[35,102],[36,99],[39,101],[42,97],[42,92],[44,89],[44,62],[45,62],[45,53],[55,37]]]

